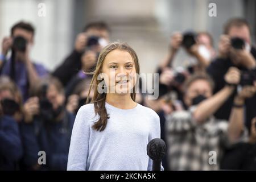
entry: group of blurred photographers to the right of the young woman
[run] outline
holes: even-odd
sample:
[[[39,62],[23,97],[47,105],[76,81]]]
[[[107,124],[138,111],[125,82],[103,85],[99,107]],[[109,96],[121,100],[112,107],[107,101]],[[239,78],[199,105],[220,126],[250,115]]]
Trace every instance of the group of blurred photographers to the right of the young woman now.
[[[256,169],[256,55],[245,19],[230,19],[218,52],[205,32],[171,37],[159,65],[162,137],[168,146],[166,169]],[[172,66],[178,49],[196,61]],[[180,60],[177,60],[180,61]]]

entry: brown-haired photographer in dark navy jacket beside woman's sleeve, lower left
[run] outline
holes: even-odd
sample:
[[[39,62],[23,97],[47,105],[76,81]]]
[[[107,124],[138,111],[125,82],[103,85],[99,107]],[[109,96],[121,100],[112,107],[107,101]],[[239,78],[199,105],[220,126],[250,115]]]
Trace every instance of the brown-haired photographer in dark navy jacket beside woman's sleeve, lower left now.
[[[65,110],[61,83],[46,78],[35,88],[35,96],[24,104],[21,125],[24,145],[23,168],[34,170],[65,170],[75,115]],[[38,152],[46,152],[46,164],[38,164]]]

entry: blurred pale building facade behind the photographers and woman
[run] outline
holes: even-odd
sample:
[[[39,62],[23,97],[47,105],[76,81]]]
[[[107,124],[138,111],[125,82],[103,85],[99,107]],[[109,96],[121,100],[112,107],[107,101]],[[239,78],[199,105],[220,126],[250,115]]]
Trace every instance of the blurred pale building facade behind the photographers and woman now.
[[[216,17],[208,15],[212,2]],[[39,3],[46,5],[45,17],[38,16]],[[52,70],[71,51],[86,23],[104,20],[112,30],[111,40],[129,43],[138,53],[141,72],[152,73],[174,31],[208,31],[216,47],[226,20],[242,16],[251,24],[254,43],[255,7],[253,0],[0,0],[0,39],[15,22],[31,22],[36,27],[32,57]]]

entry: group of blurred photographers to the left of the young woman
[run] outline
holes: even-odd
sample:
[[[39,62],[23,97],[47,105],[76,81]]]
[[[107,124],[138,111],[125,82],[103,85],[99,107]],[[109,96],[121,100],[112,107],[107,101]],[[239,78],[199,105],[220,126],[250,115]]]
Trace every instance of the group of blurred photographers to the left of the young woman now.
[[[98,53],[109,43],[105,23],[88,24],[71,54],[51,73],[31,60],[34,34],[30,23],[19,22],[2,41],[1,170],[67,169],[73,122],[92,78],[85,72],[93,71]]]

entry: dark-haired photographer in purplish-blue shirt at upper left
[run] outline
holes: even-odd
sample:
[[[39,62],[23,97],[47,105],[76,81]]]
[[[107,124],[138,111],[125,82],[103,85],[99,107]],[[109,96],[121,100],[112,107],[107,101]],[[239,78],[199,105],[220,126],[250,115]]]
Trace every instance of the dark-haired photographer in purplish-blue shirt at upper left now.
[[[31,47],[34,44],[35,29],[31,24],[18,22],[11,28],[11,37],[2,42],[0,55],[1,75],[7,75],[18,85],[23,100],[29,97],[29,92],[38,82],[39,77],[47,75],[43,65],[32,63]],[[7,53],[11,49],[11,57]]]

